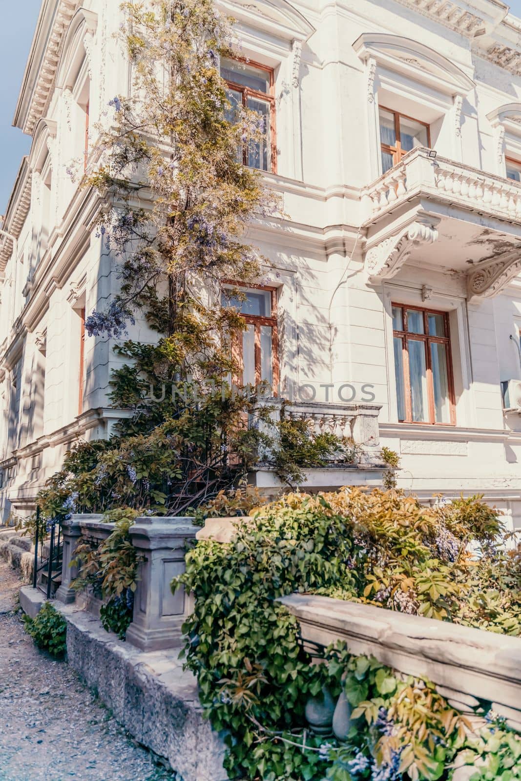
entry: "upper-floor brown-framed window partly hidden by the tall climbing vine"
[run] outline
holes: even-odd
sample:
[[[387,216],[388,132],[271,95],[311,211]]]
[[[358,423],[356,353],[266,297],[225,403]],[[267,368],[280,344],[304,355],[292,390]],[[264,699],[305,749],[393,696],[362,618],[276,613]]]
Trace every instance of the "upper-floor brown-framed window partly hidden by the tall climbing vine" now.
[[[230,122],[235,122],[239,105],[259,115],[262,140],[244,144],[239,153],[244,166],[277,173],[277,133],[275,126],[275,76],[273,68],[244,59],[222,59],[221,76],[228,86]]]

